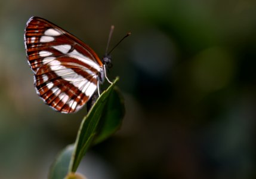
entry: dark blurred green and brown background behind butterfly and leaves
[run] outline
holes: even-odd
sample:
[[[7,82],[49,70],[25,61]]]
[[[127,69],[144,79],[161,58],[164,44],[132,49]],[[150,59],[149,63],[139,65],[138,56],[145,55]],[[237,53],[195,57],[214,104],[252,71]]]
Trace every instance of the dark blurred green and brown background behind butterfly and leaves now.
[[[85,108],[54,112],[38,97],[23,34],[31,16],[101,57],[126,104],[119,132],[84,158],[88,179],[256,178],[256,2],[0,1],[0,178],[47,178]]]

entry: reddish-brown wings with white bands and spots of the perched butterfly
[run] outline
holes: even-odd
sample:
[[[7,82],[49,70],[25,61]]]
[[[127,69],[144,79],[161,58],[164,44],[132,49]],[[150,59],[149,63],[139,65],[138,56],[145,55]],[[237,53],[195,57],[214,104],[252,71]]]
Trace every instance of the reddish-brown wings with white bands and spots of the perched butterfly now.
[[[103,72],[97,54],[69,32],[39,17],[27,21],[24,42],[42,100],[62,113],[81,109],[97,89]]]

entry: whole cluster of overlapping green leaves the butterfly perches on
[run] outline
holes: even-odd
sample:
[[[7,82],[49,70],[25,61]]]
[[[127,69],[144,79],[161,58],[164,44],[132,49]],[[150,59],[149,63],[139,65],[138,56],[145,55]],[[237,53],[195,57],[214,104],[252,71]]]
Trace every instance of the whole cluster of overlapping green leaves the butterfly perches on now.
[[[75,144],[60,153],[51,167],[50,179],[63,179],[67,174],[76,172],[92,142],[103,141],[121,126],[125,110],[124,98],[115,87],[118,79],[100,95],[82,120]]]

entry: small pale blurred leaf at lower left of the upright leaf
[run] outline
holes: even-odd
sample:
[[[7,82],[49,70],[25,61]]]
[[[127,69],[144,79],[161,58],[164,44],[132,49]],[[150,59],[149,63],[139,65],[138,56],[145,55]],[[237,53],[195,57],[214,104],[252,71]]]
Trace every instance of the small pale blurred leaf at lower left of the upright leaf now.
[[[70,144],[58,154],[50,168],[49,179],[63,179],[66,177],[74,148],[74,145]]]

